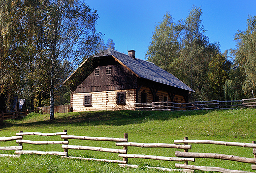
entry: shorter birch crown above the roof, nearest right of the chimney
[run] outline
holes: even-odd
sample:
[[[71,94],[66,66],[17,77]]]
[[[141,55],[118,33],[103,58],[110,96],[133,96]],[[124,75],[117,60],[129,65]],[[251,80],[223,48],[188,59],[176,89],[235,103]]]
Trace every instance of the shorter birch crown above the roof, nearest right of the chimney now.
[[[155,26],[152,41],[145,54],[146,59],[163,70],[173,73],[172,63],[180,55],[181,25],[175,24],[167,12],[159,25]]]

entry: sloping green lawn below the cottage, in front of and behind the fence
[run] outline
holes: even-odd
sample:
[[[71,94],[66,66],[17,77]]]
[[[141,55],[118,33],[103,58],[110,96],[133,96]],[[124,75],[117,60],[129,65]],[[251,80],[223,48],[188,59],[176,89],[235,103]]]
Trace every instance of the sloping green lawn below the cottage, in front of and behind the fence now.
[[[23,132],[62,132],[67,129],[69,135],[123,138],[128,133],[129,142],[173,143],[175,139],[207,139],[229,142],[252,143],[256,136],[256,109],[224,111],[96,111],[56,114],[55,121],[49,115],[31,113],[22,120],[8,120],[0,124],[0,137],[14,136]],[[24,136],[23,139],[62,140],[60,136]],[[114,142],[70,140],[70,145],[116,147]],[[15,141],[0,142],[0,146],[15,146]],[[29,145],[24,150],[63,151],[61,145]],[[175,156],[172,148],[135,148],[128,147],[129,154],[148,154]],[[180,149],[178,149],[180,150]],[[182,151],[182,150],[180,150]],[[231,154],[253,158],[252,148],[231,146],[192,144],[190,152],[209,152]],[[14,151],[0,151],[13,154]],[[87,150],[68,150],[69,156],[117,159],[118,154]],[[140,166],[159,166],[174,168],[174,162],[147,159],[128,159],[129,164]],[[181,162],[182,163],[182,162]],[[250,171],[251,164],[217,159],[199,159],[189,162],[192,165],[215,166],[233,170]],[[22,155],[21,158],[0,158],[0,170],[3,173],[159,173],[158,170],[145,168],[120,168],[118,164],[63,159],[60,156]],[[200,173],[199,171],[195,171]]]

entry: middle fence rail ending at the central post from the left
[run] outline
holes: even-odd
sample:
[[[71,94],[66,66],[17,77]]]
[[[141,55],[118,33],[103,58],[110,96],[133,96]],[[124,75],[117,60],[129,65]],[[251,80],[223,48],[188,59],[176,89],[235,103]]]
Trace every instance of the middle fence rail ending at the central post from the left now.
[[[92,151],[102,151],[102,152],[113,152],[113,153],[127,153],[127,149],[114,149],[114,148],[101,148],[101,147],[89,147],[89,146],[72,146],[72,145],[62,145],[64,149],[83,149]]]

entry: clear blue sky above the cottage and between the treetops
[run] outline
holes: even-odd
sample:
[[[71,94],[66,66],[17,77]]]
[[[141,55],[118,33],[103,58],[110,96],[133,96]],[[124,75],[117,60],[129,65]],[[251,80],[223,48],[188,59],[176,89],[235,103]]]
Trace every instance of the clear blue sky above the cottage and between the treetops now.
[[[115,48],[145,59],[155,25],[168,11],[175,22],[185,20],[192,6],[201,7],[204,29],[210,42],[219,42],[221,51],[234,49],[237,30],[246,30],[249,15],[256,15],[256,0],[85,0],[99,15],[97,31]]]

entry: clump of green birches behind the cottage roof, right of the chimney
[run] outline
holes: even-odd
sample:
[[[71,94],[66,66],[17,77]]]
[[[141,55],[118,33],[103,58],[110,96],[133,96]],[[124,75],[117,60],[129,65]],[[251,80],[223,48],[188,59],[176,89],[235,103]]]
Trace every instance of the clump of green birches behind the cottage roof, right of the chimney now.
[[[146,53],[148,61],[174,74],[195,91],[190,101],[209,100],[224,94],[226,77],[217,78],[220,78],[222,71],[228,73],[226,68],[230,66],[226,59],[222,62],[226,65],[217,66],[219,44],[209,43],[201,15],[201,8],[193,7],[185,21],[174,23],[170,14],[166,13],[159,25],[156,25]],[[219,93],[219,90],[222,92]]]

